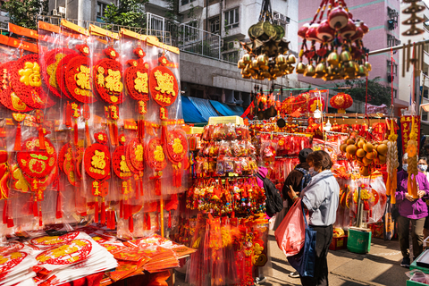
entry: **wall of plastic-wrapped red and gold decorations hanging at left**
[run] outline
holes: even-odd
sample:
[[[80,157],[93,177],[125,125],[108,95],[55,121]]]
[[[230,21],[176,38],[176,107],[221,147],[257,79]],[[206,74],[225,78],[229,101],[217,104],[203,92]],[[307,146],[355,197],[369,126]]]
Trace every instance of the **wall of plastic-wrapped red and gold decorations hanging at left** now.
[[[189,167],[178,49],[69,21],[18,30],[36,44],[0,35],[9,53],[0,59],[3,223],[31,230],[34,217],[40,226],[83,218],[114,229],[124,220],[123,237],[164,231],[159,217],[177,208]]]

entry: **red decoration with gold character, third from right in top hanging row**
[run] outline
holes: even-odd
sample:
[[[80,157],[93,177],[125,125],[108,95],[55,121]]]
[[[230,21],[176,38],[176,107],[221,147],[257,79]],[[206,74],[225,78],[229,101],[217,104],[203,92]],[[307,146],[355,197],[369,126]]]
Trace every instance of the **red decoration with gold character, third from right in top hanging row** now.
[[[98,95],[108,104],[120,105],[123,102],[122,64],[114,59],[118,52],[114,48],[105,49],[108,59],[98,61],[93,67],[94,85]]]

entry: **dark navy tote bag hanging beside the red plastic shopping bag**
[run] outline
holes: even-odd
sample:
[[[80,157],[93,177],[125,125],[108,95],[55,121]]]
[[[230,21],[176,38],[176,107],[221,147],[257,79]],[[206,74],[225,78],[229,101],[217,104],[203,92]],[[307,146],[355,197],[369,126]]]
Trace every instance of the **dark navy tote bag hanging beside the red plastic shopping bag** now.
[[[306,240],[304,248],[301,248],[297,255],[288,257],[289,264],[298,271],[301,277],[313,277],[315,274],[315,235],[317,231],[313,231],[307,224],[307,217],[302,206],[302,214],[306,223]]]

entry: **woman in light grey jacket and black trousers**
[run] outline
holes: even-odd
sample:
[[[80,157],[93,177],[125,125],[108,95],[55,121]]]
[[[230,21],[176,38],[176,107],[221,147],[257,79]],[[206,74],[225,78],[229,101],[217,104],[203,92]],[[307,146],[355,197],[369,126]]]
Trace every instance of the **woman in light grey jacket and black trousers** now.
[[[303,286],[328,285],[328,248],[332,241],[340,186],[332,175],[332,160],[328,153],[320,150],[308,155],[309,170],[317,174],[312,178],[300,198],[309,212],[309,226],[316,231],[315,242],[315,274],[314,277],[300,277]],[[290,186],[289,197],[298,199],[297,193]]]

